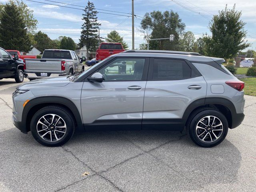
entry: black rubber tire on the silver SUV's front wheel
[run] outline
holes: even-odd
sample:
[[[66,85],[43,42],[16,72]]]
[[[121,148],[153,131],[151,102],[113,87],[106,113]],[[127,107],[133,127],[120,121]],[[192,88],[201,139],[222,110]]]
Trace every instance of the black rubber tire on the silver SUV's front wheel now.
[[[50,126],[46,125],[47,121],[44,121],[43,123],[47,126],[47,128],[46,128],[46,126],[42,126],[42,124],[38,124],[38,121],[39,120],[43,121],[44,120],[43,116],[45,116],[46,120],[50,121],[51,119],[47,118],[48,114],[49,114],[49,116],[50,116],[50,114],[55,114],[57,117],[55,116],[55,118],[53,118],[54,121],[52,122],[52,124],[50,124]],[[66,128],[62,128],[62,131],[63,132],[65,131],[65,133],[64,133],[64,135],[62,135],[61,137],[58,138],[60,140],[56,140],[56,139],[54,140],[54,138],[56,138],[54,136],[54,134],[55,133],[60,133],[60,132],[58,132],[58,130],[56,130],[56,128],[54,128],[54,123],[56,123],[56,124],[59,123],[57,121],[58,116],[61,118],[60,121],[62,121],[60,123],[63,124],[63,122],[64,122],[64,125],[66,126]],[[40,128],[40,126],[42,126],[42,127]],[[46,130],[44,131],[43,129],[46,129]],[[58,128],[58,129],[60,129],[60,128]],[[70,114],[70,112],[68,110],[66,110],[65,108],[63,108],[63,107],[60,107],[60,106],[46,106],[46,107],[38,110],[38,112],[36,112],[34,114],[34,116],[32,117],[32,120],[30,122],[30,130],[31,130],[31,133],[32,133],[33,137],[40,144],[42,144],[44,146],[50,146],[50,147],[61,146],[61,145],[65,144],[66,142],[68,142],[68,140],[70,140],[70,138],[74,134],[74,131],[75,131],[74,118]],[[41,137],[42,135],[41,136],[39,135],[38,130],[39,131],[41,130],[42,135],[45,134],[46,132],[48,132],[45,137],[50,137],[50,139],[52,141],[48,141],[47,138],[44,138],[44,137],[42,138]],[[41,132],[40,132],[40,134],[41,134]]]

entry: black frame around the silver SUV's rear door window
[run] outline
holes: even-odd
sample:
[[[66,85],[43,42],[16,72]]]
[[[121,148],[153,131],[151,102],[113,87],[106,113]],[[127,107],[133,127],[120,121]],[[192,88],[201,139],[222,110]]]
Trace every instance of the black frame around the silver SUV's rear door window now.
[[[194,72],[194,76],[188,77],[188,78],[178,78],[178,79],[153,79],[153,68],[154,68],[154,60],[155,59],[169,59],[169,60],[182,60],[184,62],[186,62],[186,64],[188,64],[188,66],[191,69],[191,73],[192,71]],[[190,79],[190,78],[195,78],[195,77],[199,77],[202,76],[202,74],[200,74],[200,72],[197,70],[197,68],[188,60],[186,59],[181,59],[181,58],[164,58],[164,57],[151,57],[150,58],[150,63],[149,63],[149,68],[148,68],[148,81],[172,81],[172,80],[182,80],[182,79]]]

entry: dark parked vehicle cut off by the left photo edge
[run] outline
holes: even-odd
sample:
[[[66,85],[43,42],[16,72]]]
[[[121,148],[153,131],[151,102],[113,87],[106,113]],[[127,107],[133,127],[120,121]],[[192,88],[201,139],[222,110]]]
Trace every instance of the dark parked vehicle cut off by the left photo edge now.
[[[23,82],[23,64],[17,62],[18,54],[14,58],[3,48],[0,48],[0,79],[14,78],[17,83]]]

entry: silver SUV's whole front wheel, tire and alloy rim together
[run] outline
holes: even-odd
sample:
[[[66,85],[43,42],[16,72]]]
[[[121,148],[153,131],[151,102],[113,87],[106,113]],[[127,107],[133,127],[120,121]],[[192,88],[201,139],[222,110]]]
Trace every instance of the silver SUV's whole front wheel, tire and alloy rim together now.
[[[34,114],[30,122],[33,137],[45,146],[60,146],[74,134],[75,124],[70,112],[59,106],[47,106]]]

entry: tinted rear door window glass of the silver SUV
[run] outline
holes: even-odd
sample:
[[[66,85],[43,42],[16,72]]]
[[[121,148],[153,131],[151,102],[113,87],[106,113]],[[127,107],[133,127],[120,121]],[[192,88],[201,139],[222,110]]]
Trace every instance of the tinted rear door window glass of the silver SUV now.
[[[154,59],[153,80],[178,80],[191,76],[192,70],[184,60]]]

